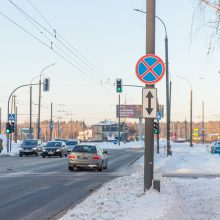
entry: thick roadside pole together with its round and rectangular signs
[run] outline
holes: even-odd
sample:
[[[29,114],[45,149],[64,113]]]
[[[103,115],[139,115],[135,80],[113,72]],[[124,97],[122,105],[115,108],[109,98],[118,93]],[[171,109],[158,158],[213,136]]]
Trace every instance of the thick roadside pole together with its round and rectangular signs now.
[[[149,2],[148,5],[150,8],[152,7],[152,11],[147,14],[151,14],[150,17],[152,17],[149,20],[147,19],[147,22],[149,22],[148,25],[152,25],[151,28],[154,32],[155,25],[150,24],[150,20],[153,23],[155,22],[155,5],[153,2]],[[151,38],[151,42],[147,42],[147,52],[154,53],[154,38],[155,36]],[[152,45],[149,45],[149,43]],[[144,191],[149,190],[153,182],[154,119],[157,118],[157,89],[154,88],[154,84],[158,83],[164,74],[165,64],[160,57],[154,54],[146,54],[136,64],[136,75],[141,82],[146,84],[146,87],[142,90],[142,117],[145,118]],[[159,132],[157,132],[157,135],[159,139]]]

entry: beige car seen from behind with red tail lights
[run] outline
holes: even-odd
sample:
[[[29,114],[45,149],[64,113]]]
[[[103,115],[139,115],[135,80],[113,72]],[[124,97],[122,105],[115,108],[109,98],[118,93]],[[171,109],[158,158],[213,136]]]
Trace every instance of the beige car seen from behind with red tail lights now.
[[[96,145],[76,145],[68,155],[68,168],[94,168],[99,171],[108,168],[108,152]]]

